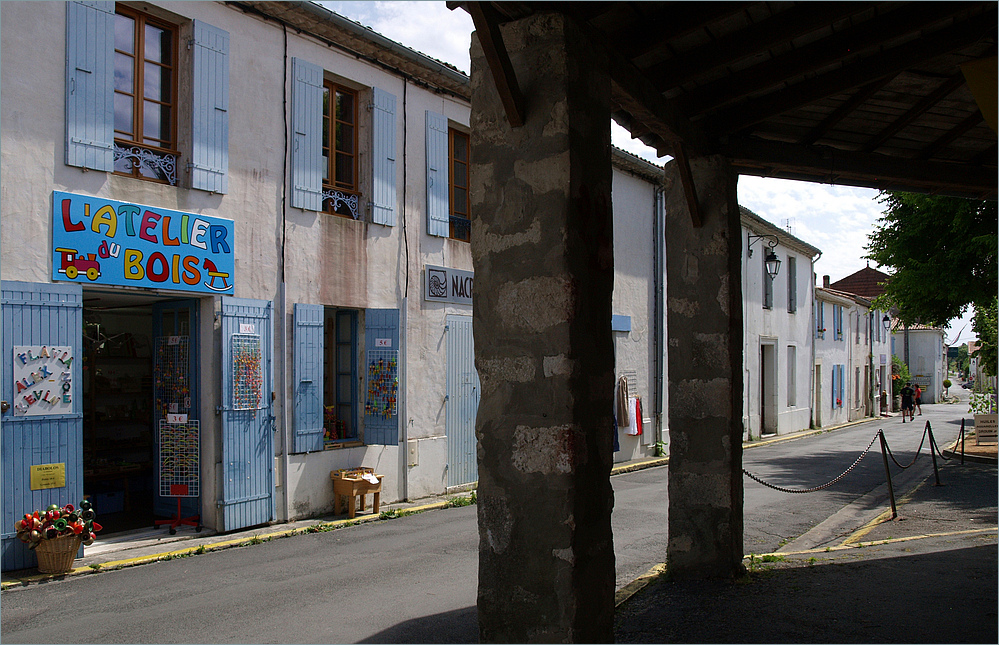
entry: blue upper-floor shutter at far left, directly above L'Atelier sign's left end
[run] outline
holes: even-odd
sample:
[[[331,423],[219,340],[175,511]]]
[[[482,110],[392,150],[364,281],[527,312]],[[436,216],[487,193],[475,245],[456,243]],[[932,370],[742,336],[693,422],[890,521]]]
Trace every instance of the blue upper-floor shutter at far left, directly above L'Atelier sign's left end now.
[[[66,165],[114,169],[114,2],[66,4]]]

